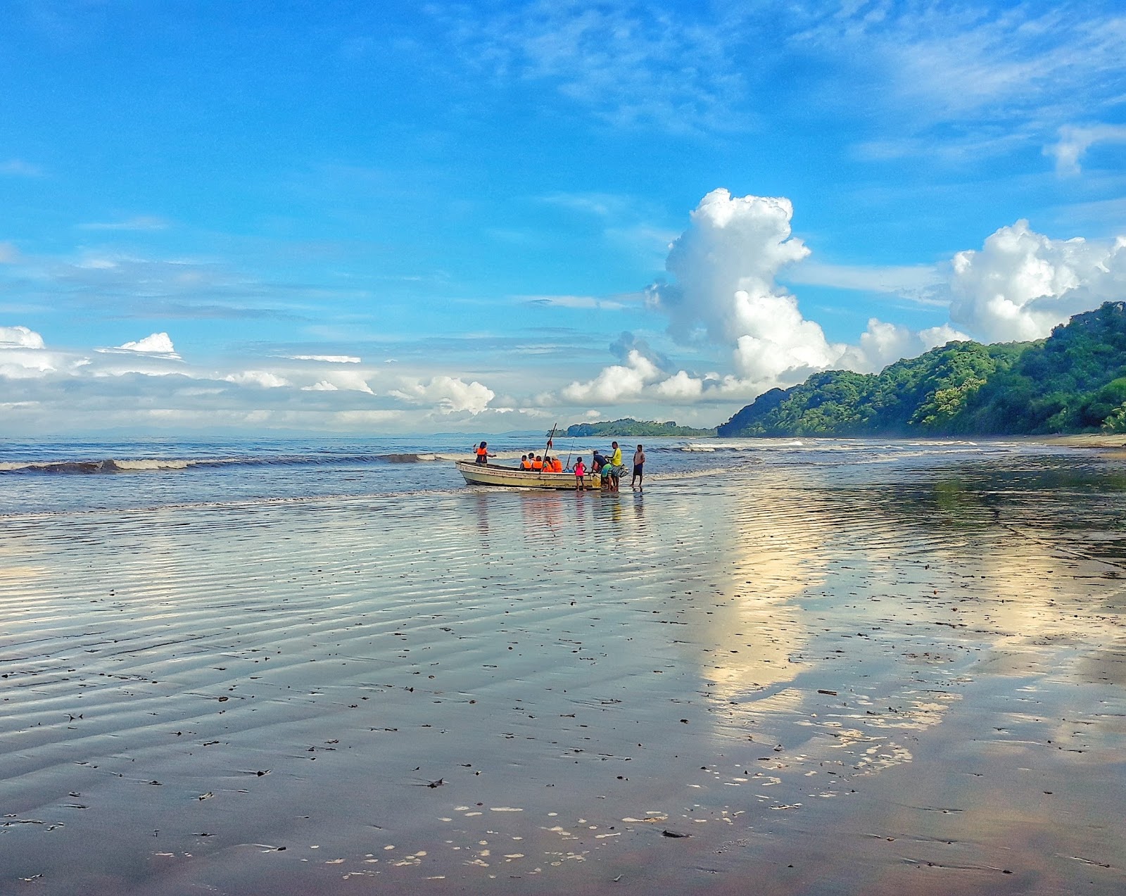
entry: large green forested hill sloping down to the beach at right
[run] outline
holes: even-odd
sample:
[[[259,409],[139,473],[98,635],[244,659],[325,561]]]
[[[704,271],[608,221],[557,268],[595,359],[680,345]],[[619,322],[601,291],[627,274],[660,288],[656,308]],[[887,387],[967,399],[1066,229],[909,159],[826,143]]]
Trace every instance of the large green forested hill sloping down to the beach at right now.
[[[1126,432],[1126,303],[1047,339],[948,342],[878,374],[830,370],[771,389],[718,434],[1007,436]]]

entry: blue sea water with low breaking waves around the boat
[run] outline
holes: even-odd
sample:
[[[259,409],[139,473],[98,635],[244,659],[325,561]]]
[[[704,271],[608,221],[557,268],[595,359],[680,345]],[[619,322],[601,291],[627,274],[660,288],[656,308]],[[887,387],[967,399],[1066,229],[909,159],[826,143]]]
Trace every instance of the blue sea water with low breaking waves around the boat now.
[[[242,438],[137,440],[0,439],[0,517],[86,510],[254,503],[459,491],[454,466],[472,459],[473,436],[367,438]],[[492,463],[517,466],[521,454],[543,454],[543,437],[489,439]],[[556,438],[553,454],[588,467],[605,438]],[[632,478],[636,442],[620,442]],[[888,439],[645,439],[650,489],[740,487],[757,472],[788,471],[795,483],[819,486],[988,475],[1026,489],[1061,476],[1093,482],[1121,463],[1088,449],[1025,441]],[[878,473],[876,472],[878,468]],[[1093,477],[1093,480],[1091,478]],[[992,486],[991,486],[992,487]],[[1094,486],[1091,486],[1094,487]],[[1101,486],[1099,486],[1101,487]]]

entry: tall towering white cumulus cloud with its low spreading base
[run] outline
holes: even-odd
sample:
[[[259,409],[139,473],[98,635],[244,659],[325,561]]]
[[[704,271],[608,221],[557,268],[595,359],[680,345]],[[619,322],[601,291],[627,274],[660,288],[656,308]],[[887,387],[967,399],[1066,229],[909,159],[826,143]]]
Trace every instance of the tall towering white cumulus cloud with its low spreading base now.
[[[787,266],[810,254],[792,235],[792,216],[786,198],[733,197],[725,189],[713,190],[670,247],[665,268],[673,280],[649,292],[650,306],[668,316],[669,334],[676,341],[726,347],[733,373],[677,369],[644,341],[623,333],[610,347],[619,362],[590,380],[571,383],[560,397],[572,404],[750,398],[819,370],[879,370],[900,358],[967,338],[948,324],[915,332],[872,319],[855,344],[829,341],[821,325],[807,320],[797,298],[777,281]],[[841,274],[824,268],[814,271],[815,277],[838,279]],[[884,289],[894,281],[932,289],[937,280],[933,267],[899,268],[886,277],[876,269],[844,274],[854,285]]]

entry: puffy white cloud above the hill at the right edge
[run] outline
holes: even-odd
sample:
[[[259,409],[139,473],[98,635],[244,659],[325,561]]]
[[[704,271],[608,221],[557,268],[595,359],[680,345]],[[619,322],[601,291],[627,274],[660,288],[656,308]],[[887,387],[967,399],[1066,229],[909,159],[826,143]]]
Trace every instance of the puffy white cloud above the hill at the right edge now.
[[[1126,236],[1052,240],[1018,221],[953,260],[950,320],[988,341],[1039,339],[1126,293]]]

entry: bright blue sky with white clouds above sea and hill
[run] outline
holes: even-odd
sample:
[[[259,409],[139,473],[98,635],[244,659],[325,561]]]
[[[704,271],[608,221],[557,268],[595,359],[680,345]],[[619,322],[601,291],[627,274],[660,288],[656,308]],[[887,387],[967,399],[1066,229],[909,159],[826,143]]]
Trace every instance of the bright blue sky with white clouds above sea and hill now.
[[[1114,2],[10,0],[0,436],[712,427],[1126,299]]]

